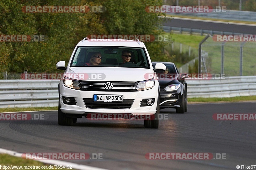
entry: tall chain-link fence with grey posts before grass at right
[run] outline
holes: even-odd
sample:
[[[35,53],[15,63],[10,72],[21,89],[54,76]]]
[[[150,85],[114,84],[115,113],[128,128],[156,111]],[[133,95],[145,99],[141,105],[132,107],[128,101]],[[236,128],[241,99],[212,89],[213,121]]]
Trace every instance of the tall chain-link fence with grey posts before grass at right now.
[[[210,36],[201,49],[201,73],[225,76],[256,75],[256,42],[213,41]]]

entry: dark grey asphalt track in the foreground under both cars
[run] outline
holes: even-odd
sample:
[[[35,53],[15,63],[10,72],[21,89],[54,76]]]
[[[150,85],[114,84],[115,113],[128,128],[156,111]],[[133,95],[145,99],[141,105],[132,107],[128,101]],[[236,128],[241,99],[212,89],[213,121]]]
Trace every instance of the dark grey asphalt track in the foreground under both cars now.
[[[158,129],[145,129],[142,120],[86,118],[59,126],[57,111],[29,112],[45,120],[0,121],[0,145],[20,153],[102,153],[103,159],[67,161],[106,169],[236,169],[256,164],[256,122],[217,121],[212,115],[255,113],[255,104],[192,104],[185,114],[163,109],[168,120]],[[224,153],[226,159],[148,160],[146,153]]]

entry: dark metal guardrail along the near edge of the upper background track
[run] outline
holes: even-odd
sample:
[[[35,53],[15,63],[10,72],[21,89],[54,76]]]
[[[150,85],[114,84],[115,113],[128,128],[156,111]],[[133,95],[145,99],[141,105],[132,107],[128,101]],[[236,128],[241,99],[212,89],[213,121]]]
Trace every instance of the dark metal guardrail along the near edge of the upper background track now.
[[[182,27],[174,27],[174,26],[163,26],[164,32],[170,33],[171,31],[179,31],[180,34],[182,32],[187,33],[200,33],[203,34],[210,34],[210,35],[244,35],[243,33],[234,33],[234,32],[226,32],[226,31],[212,31],[212,30],[203,30],[203,29],[194,29],[194,28],[182,28]],[[246,34],[248,35],[248,34]]]

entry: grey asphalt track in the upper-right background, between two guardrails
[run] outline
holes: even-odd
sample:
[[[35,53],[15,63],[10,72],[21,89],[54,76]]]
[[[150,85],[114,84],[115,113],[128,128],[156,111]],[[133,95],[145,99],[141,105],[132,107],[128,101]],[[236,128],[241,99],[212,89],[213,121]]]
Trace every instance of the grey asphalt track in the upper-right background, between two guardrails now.
[[[216,22],[198,19],[188,19],[188,18],[174,18],[166,19],[164,26],[182,27],[182,28],[193,28],[193,29],[203,29],[212,31],[223,31],[223,32],[233,32],[233,33],[244,33],[244,34],[256,34],[256,25],[250,24],[232,24],[227,22]]]

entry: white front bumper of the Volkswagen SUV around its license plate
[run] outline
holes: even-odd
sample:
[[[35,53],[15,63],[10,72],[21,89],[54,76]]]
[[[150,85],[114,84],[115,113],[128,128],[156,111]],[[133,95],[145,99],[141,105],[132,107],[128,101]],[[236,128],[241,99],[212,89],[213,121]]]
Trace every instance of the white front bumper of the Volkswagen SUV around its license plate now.
[[[129,108],[89,108],[88,103],[93,103],[93,95],[124,95],[124,101],[132,102]],[[81,91],[67,88],[60,83],[60,110],[65,114],[84,115],[89,113],[125,113],[132,115],[154,115],[156,113],[158,96],[158,82],[152,89],[137,91],[137,92],[95,92],[95,91]],[[76,105],[68,105],[63,103],[62,97],[71,97],[75,99]],[[143,99],[155,99],[152,106],[141,106]],[[87,104],[86,104],[87,102]],[[106,102],[108,103],[108,102]],[[112,103],[112,102],[111,102]],[[87,107],[86,107],[87,106]]]

